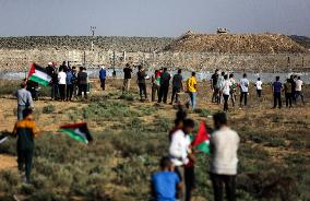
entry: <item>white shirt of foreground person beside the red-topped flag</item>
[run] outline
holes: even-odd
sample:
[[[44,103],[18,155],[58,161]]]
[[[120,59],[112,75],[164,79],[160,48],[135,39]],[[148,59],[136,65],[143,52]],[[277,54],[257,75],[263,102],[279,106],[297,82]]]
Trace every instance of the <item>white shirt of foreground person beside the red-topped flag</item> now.
[[[175,166],[181,166],[189,163],[188,159],[189,140],[182,130],[172,133],[169,155]]]

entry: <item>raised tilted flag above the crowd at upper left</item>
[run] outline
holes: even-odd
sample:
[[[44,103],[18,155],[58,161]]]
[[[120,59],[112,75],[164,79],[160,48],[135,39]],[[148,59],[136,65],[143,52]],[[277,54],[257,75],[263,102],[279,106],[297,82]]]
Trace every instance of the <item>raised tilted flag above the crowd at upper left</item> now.
[[[47,86],[51,81],[51,76],[47,74],[45,68],[33,63],[28,73],[28,80]]]

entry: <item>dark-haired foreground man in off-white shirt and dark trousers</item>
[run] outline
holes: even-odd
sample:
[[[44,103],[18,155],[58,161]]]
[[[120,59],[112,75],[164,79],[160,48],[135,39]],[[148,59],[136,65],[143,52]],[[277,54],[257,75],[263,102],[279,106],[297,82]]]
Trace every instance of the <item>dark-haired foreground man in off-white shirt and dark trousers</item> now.
[[[210,138],[210,178],[214,200],[224,200],[225,187],[227,200],[236,201],[237,152],[240,138],[228,127],[226,114],[215,114],[213,120],[215,131]]]

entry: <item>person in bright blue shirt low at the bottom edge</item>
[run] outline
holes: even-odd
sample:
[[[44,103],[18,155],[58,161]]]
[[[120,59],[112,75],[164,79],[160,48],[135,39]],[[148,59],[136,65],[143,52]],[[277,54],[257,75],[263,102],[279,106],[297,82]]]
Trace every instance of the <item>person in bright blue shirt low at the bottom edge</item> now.
[[[182,182],[168,156],[160,159],[160,170],[152,175],[151,187],[152,199],[156,201],[175,201],[177,192],[182,189]]]

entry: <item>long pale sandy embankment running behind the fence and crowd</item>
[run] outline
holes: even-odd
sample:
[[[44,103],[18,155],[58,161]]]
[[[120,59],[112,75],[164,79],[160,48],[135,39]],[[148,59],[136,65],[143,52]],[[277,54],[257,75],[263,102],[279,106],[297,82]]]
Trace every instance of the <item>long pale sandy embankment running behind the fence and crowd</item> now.
[[[0,49],[0,70],[24,71],[31,62],[46,66],[49,61],[61,63],[71,61],[74,66],[124,66],[126,62],[144,63],[146,68],[171,67],[195,70],[213,70],[215,68],[227,70],[254,70],[254,71],[286,71],[288,69],[309,70],[310,54],[213,54],[213,52],[126,52],[104,49],[79,50],[79,49]],[[289,63],[288,63],[289,57]],[[302,66],[303,58],[303,66]]]

